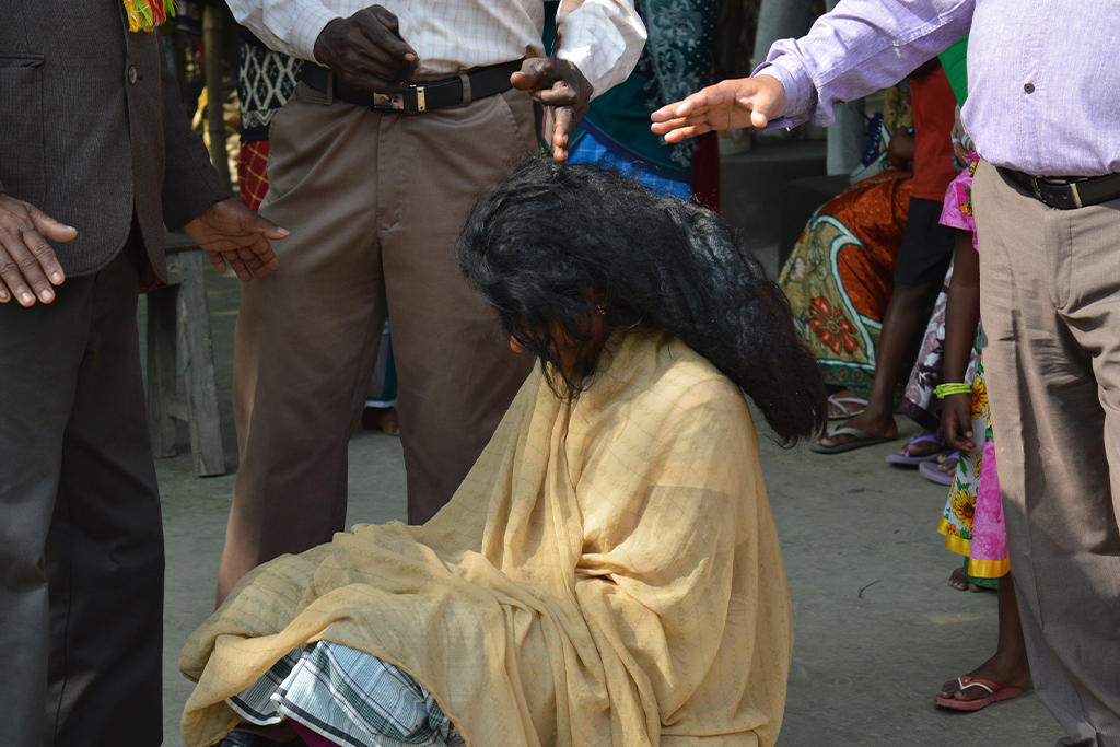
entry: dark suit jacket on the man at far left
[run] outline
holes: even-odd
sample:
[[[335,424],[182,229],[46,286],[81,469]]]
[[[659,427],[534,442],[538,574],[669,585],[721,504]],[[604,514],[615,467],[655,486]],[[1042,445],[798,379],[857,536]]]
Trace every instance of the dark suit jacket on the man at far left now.
[[[134,213],[164,280],[162,224],[230,196],[159,35],[129,32],[121,0],[0,0],[0,192],[77,228],[55,244],[72,277],[120,252]]]

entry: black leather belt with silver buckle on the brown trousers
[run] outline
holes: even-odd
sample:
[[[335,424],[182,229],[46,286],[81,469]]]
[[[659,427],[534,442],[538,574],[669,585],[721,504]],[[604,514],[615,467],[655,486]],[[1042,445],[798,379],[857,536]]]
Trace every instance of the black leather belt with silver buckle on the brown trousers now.
[[[478,99],[504,93],[513,87],[510,83],[510,76],[520,69],[521,60],[517,59],[512,63],[482,67],[474,73],[457,75],[445,81],[405,85],[400,93],[395,94],[373,93],[351,87],[326,67],[312,63],[304,63],[296,77],[319,93],[325,93],[349,104],[368,106],[379,111],[419,114],[432,109],[459,106]],[[466,86],[464,86],[463,78],[467,80]]]

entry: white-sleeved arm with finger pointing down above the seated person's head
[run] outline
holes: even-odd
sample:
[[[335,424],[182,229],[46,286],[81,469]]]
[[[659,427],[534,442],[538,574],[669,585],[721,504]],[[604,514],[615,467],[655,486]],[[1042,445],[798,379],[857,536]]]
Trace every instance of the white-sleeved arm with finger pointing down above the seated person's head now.
[[[633,0],[562,0],[557,12],[557,45],[551,57],[526,59],[510,82],[552,114],[552,143],[558,161],[591,99],[625,81],[645,45],[645,25]]]

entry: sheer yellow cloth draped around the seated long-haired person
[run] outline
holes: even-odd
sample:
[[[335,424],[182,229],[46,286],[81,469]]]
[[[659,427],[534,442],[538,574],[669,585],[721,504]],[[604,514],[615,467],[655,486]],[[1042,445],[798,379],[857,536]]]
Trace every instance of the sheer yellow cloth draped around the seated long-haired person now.
[[[790,596],[744,395],[662,333],[616,335],[575,402],[538,371],[423,526],[258,568],[190,636],[190,747],[284,654],[400,666],[473,747],[773,745]]]

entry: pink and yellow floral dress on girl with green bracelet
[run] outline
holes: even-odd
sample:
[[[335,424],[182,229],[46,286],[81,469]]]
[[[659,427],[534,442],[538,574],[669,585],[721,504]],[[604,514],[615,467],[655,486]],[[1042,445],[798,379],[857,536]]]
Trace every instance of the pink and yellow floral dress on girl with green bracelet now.
[[[972,175],[978,162],[979,159],[973,155],[969,160],[969,168],[950,185],[941,217],[944,225],[971,231],[973,246],[976,221],[972,216],[971,190]],[[982,342],[983,330],[980,329],[977,335],[978,354]],[[1005,576],[1010,566],[982,354],[972,380],[971,410],[977,448],[961,455],[937,531],[945,535],[946,548],[968,558],[969,580],[978,586],[993,588],[995,579]]]

